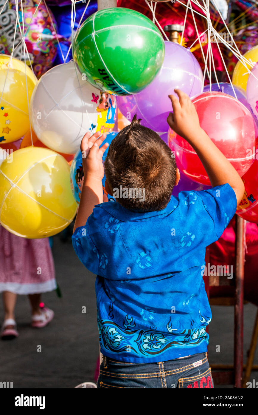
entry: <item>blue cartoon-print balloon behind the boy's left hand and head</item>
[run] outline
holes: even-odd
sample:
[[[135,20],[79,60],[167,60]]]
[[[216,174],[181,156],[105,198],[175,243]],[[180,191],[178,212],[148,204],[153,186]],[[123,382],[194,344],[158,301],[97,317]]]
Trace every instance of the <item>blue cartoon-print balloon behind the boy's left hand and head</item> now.
[[[117,136],[118,132],[108,132],[106,134],[106,139],[104,140],[103,144],[108,142],[109,144],[111,141]],[[103,145],[102,144],[102,145]],[[109,147],[106,149],[102,156],[103,163],[106,159],[106,155],[108,154]],[[84,181],[84,171],[82,168],[82,152],[79,149],[75,154],[75,157],[72,161],[71,168],[70,168],[70,184],[72,188],[72,194],[76,200],[76,202],[80,203],[81,193],[82,193],[82,185]],[[103,202],[114,201],[114,198],[109,195],[105,190],[105,181],[106,176],[102,179],[102,186],[103,186]]]

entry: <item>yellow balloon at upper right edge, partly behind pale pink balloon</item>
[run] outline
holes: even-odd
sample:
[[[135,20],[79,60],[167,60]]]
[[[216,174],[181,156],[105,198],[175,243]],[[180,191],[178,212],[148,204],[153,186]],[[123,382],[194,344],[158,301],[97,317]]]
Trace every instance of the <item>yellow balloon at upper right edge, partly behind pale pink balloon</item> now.
[[[253,65],[258,62],[258,46],[254,46],[252,49],[247,51],[243,55],[248,61],[250,61],[250,65],[246,62],[246,66],[248,69],[252,70]],[[246,67],[243,65],[241,61],[238,61],[234,72],[232,75],[232,83],[236,86],[240,86],[244,90],[246,90],[246,84],[248,81],[249,73],[246,69]]]

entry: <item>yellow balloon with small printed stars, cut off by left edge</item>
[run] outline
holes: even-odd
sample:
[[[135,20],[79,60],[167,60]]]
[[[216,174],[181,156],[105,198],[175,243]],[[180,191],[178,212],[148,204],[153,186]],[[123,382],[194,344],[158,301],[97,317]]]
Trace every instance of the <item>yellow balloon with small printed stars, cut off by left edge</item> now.
[[[29,129],[29,106],[36,77],[29,66],[0,55],[0,142],[21,138]],[[27,97],[28,91],[28,97]]]

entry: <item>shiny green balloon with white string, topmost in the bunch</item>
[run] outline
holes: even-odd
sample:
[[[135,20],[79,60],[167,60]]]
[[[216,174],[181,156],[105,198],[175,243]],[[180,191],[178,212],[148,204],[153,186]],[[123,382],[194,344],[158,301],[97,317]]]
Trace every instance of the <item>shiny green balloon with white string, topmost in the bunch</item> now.
[[[164,40],[146,16],[124,7],[88,17],[73,43],[73,59],[89,83],[116,95],[140,92],[162,66]]]

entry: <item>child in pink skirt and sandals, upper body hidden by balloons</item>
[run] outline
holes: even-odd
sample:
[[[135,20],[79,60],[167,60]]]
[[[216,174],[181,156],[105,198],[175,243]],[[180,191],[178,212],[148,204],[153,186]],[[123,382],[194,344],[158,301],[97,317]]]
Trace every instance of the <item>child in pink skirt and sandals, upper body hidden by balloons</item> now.
[[[0,264],[0,292],[5,310],[1,338],[18,337],[14,314],[18,294],[29,296],[31,326],[45,327],[54,312],[41,305],[41,293],[57,288],[49,239],[25,239],[0,226]]]

